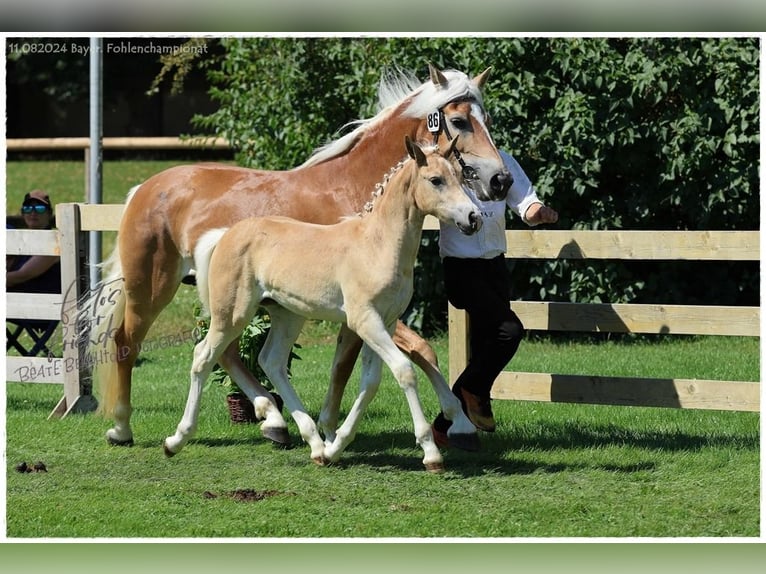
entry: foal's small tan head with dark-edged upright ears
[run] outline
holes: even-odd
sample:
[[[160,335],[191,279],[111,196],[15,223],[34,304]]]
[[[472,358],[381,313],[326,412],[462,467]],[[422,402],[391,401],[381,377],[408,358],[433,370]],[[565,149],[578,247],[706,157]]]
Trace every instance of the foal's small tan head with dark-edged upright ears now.
[[[446,159],[454,153],[457,138],[443,154],[436,147],[423,149],[409,136],[404,143],[417,166],[411,193],[418,209],[440,221],[454,223],[466,235],[476,233],[481,228],[481,214],[466,195],[452,163]]]

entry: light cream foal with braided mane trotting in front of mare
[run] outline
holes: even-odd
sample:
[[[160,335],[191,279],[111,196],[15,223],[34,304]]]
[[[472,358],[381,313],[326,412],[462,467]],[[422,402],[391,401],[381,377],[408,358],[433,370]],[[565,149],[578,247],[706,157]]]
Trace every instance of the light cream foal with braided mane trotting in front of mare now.
[[[445,155],[453,152],[452,141]],[[402,162],[380,188],[370,212],[334,225],[316,225],[285,217],[252,217],[229,230],[212,230],[197,243],[197,285],[210,312],[210,329],[195,347],[191,387],[176,433],[165,439],[165,452],[177,454],[197,428],[202,388],[218,358],[236,341],[259,306],[271,317],[271,330],[258,362],[282,395],[285,405],[319,463],[335,462],[356,434],[360,418],[380,384],[381,359],[407,397],[423,464],[444,469],[431,427],[417,394],[412,363],[391,335],[412,297],[413,268],[427,214],[471,234],[481,227],[478,208],[468,198],[455,169],[438,148],[426,151],[409,137],[410,160]],[[208,264],[209,260],[209,264]],[[346,421],[325,440],[290,385],[287,365],[306,319],[345,323],[364,341],[359,395]],[[440,401],[460,401],[445,388]],[[267,420],[276,408],[255,401]],[[259,412],[260,411],[260,412]],[[461,419],[458,434],[475,432]]]

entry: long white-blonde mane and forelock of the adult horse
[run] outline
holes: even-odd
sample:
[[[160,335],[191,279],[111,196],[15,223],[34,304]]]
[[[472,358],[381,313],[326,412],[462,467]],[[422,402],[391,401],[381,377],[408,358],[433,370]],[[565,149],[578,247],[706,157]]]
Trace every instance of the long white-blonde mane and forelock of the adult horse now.
[[[411,72],[405,70],[386,70],[378,86],[378,113],[366,120],[347,123],[341,130],[356,126],[353,131],[317,148],[297,169],[317,165],[346,153],[370,129],[390,118],[408,100],[401,114],[409,118],[424,118],[429,112],[454,100],[470,99],[480,106],[484,105],[481,90],[466,74],[457,70],[444,70],[442,73],[449,80],[446,88],[437,87],[430,80],[420,83]]]

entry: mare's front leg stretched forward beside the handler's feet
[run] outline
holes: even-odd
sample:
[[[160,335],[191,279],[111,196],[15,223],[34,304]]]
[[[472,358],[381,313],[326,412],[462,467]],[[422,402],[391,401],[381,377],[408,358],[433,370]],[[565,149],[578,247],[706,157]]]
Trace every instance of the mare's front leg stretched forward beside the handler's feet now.
[[[396,346],[423,370],[431,382],[431,386],[439,398],[444,416],[447,420],[452,421],[452,425],[447,431],[450,444],[464,450],[479,450],[479,436],[476,427],[463,412],[460,399],[450,390],[439,369],[438,358],[431,345],[401,321],[396,324],[393,339]]]

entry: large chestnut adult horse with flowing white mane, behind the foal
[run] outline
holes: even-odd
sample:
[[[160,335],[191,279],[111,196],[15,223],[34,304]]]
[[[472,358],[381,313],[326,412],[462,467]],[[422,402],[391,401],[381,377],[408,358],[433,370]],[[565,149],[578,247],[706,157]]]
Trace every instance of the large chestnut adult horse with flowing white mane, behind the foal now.
[[[124,289],[113,294],[106,307],[97,309],[91,322],[97,331],[109,329],[114,334],[96,332],[91,341],[106,345],[112,352],[109,356],[118,356],[120,349],[120,360],[99,363],[95,372],[101,411],[114,419],[114,427],[107,432],[110,443],[133,443],[130,393],[140,345],[182,278],[196,268],[197,242],[211,229],[231,227],[258,215],[335,223],[363,209],[375,183],[401,158],[405,135],[446,147],[451,137],[445,135],[447,130],[459,136],[454,158],[465,166],[463,172],[470,176],[477,195],[505,197],[510,175],[487,130],[481,94],[489,69],[469,78],[456,70],[429,68],[430,81],[417,87],[405,75],[384,78],[379,90],[382,110],[295,169],[178,166],[152,176],[131,193],[107,279],[123,277]],[[429,125],[438,127],[429,132]],[[423,339],[401,323],[395,338],[425,370],[434,388],[447,387],[436,355]],[[361,346],[359,338],[345,328],[339,341],[332,370],[336,389],[345,386]],[[251,400],[271,396],[240,361],[236,341],[220,363]],[[288,442],[287,424],[278,413],[274,417],[281,424],[265,425],[262,433],[276,442]]]

